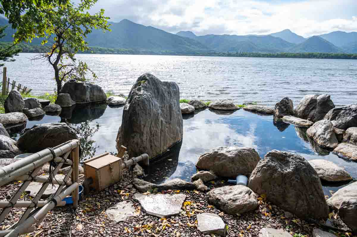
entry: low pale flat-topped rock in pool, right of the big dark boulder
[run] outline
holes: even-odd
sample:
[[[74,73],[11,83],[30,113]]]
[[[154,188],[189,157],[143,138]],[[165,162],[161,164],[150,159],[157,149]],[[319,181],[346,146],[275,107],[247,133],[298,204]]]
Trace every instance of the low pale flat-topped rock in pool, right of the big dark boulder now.
[[[352,177],[348,172],[342,167],[336,165],[335,163],[317,159],[309,160],[310,165],[314,168],[320,177],[320,179],[329,182],[347,181],[352,180]]]

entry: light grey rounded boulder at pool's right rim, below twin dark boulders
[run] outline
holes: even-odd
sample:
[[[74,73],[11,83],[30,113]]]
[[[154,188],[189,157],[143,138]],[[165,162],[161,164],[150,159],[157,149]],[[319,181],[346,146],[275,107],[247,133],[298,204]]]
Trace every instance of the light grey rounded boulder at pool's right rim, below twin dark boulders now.
[[[306,131],[307,135],[324,148],[334,149],[338,145],[335,130],[330,120],[320,120]]]

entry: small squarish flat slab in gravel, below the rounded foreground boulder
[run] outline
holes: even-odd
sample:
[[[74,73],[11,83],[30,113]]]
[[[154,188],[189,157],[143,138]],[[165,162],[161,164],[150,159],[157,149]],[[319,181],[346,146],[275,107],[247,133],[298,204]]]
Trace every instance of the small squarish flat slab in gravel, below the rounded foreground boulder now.
[[[213,213],[197,215],[197,230],[204,234],[226,236],[227,228],[222,218]]]

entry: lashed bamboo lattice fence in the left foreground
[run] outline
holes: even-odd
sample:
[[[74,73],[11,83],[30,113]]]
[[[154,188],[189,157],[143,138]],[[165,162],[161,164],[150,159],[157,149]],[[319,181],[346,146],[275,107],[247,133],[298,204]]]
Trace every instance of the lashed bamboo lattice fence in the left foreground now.
[[[71,160],[67,159],[69,155],[71,155]],[[52,161],[55,162],[54,164],[56,165],[47,179],[41,176],[36,176],[42,165]],[[55,194],[47,201],[40,201],[47,186],[52,184],[51,178],[55,177],[64,164],[71,165],[71,169],[65,175],[63,180],[57,179],[56,182],[53,182],[59,184]],[[70,176],[72,177],[72,181],[67,181]],[[32,225],[36,224],[36,226],[39,226],[47,212],[51,211],[55,206],[63,206],[66,204],[66,202],[62,200],[67,195],[72,195],[73,207],[76,208],[78,206],[79,141],[67,141],[55,148],[39,151],[20,161],[16,161],[15,163],[0,168],[0,186],[15,180],[23,180],[24,182],[9,201],[0,201],[0,208],[3,208],[0,214],[0,223],[4,221],[12,208],[27,207],[27,209],[22,214],[19,221],[6,230],[0,231],[0,237],[17,237],[23,233],[32,232]],[[20,196],[32,181],[43,183],[41,189],[31,201],[19,201]],[[64,189],[66,185],[67,188]]]

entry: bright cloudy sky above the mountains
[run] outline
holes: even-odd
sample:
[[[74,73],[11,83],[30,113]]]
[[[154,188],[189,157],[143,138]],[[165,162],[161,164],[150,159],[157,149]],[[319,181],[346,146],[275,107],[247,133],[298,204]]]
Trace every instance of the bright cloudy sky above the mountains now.
[[[101,8],[110,21],[128,19],[173,34],[357,31],[357,0],[98,0],[90,12]]]

